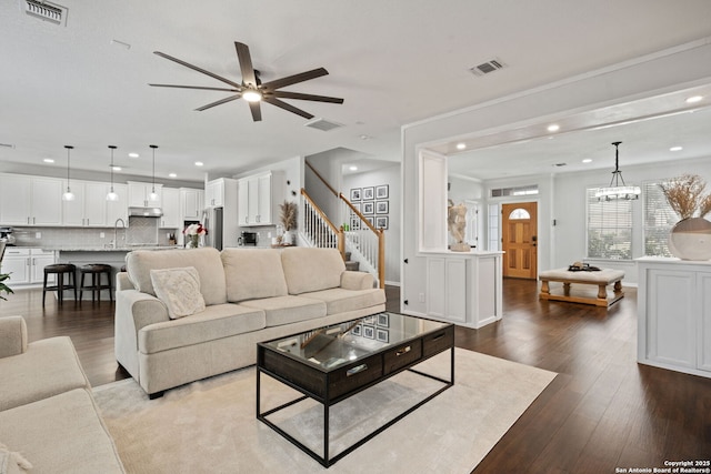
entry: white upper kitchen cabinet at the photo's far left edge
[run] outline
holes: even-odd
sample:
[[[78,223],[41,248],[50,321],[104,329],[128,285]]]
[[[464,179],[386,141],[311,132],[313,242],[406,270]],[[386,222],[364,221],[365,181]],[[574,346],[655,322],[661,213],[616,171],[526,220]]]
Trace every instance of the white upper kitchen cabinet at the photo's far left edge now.
[[[0,177],[0,222],[3,225],[61,225],[62,180],[3,174]]]

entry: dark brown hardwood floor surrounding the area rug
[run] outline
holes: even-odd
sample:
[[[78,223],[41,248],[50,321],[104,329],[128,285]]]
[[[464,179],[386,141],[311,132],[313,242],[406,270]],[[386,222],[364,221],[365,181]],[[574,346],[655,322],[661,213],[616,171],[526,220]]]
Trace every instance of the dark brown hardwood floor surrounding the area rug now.
[[[399,290],[388,288],[398,311]],[[457,329],[457,345],[559,373],[474,473],[615,473],[711,458],[711,379],[637,364],[634,289],[609,311],[539,302],[534,281],[504,282],[504,317]],[[30,341],[69,335],[93,385],[128,376],[113,359],[113,305],[58,307],[41,291],[0,301]]]

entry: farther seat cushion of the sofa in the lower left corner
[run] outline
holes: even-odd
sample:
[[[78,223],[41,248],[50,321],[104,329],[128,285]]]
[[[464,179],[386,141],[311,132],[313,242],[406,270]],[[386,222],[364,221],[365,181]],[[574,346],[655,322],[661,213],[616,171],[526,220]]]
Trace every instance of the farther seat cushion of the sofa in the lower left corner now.
[[[0,411],[89,386],[68,336],[36,341],[27,352],[0,359]]]

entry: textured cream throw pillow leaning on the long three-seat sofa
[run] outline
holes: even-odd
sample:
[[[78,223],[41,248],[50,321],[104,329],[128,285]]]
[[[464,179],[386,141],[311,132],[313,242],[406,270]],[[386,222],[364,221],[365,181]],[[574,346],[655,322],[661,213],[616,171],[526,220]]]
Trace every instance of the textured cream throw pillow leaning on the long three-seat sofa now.
[[[194,266],[151,270],[156,296],[166,303],[171,320],[204,311],[200,293],[200,275]]]

